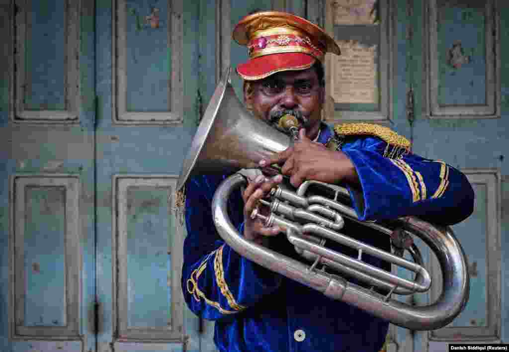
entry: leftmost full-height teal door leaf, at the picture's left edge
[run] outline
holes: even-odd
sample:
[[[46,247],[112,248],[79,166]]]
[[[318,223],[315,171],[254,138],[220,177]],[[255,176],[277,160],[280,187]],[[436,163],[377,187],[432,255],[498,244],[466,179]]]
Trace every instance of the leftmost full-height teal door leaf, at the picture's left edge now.
[[[2,350],[95,348],[93,11],[0,3]]]

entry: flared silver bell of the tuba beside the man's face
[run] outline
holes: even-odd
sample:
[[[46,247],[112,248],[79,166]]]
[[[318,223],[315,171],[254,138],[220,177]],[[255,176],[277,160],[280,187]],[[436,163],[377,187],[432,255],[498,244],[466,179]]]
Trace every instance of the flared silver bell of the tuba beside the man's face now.
[[[196,130],[182,164],[177,189],[196,174],[224,174],[228,170],[258,168],[258,161],[290,146],[290,138],[254,118],[223,75]]]

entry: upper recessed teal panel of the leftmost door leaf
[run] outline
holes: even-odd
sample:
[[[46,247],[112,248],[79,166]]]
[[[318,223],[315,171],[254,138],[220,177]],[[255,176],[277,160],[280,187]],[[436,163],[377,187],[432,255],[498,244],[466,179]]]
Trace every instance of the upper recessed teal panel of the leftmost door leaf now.
[[[34,1],[29,6],[25,38],[25,108],[65,110],[65,1]]]

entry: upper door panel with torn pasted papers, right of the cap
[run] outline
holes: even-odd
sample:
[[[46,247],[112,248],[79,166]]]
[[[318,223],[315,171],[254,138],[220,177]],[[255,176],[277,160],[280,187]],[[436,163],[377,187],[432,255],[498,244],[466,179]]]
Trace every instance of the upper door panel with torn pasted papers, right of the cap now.
[[[341,55],[327,55],[324,120],[388,121],[392,55],[390,0],[327,0],[325,30]]]

